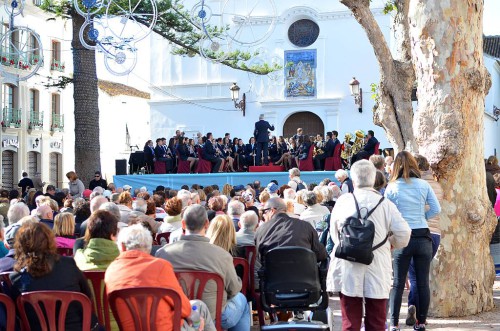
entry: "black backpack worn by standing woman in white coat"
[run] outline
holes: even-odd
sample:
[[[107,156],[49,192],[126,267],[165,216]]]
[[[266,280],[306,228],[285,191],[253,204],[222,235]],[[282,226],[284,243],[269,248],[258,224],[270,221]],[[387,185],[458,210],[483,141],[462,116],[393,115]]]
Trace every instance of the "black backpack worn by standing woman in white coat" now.
[[[338,232],[339,244],[335,249],[335,257],[350,262],[369,265],[373,261],[373,251],[385,244],[389,237],[389,235],[387,235],[381,243],[373,246],[375,224],[368,219],[382,203],[384,197],[380,199],[377,205],[370,210],[365,217],[361,217],[358,201],[354,194],[352,196],[356,204],[358,215],[347,218],[344,226]]]

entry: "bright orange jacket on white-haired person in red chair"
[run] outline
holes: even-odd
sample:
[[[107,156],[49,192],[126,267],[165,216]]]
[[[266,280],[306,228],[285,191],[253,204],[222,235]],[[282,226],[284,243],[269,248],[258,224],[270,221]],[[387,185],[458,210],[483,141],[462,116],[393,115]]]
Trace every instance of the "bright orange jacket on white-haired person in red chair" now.
[[[182,317],[187,318],[191,314],[191,304],[175,277],[172,265],[163,259],[158,259],[136,250],[122,252],[109,265],[104,281],[108,294],[119,289],[131,287],[154,286],[171,288],[179,293],[181,297]],[[170,299],[160,303],[156,315],[157,330],[172,330],[172,304]],[[178,307],[175,308],[178,309]],[[128,309],[125,303],[119,301],[117,309],[120,312],[120,316],[125,316],[125,318],[122,318],[123,328],[121,330],[134,331],[134,322],[132,316],[126,313]],[[149,314],[150,308],[144,307],[142,309],[147,309],[146,311]]]

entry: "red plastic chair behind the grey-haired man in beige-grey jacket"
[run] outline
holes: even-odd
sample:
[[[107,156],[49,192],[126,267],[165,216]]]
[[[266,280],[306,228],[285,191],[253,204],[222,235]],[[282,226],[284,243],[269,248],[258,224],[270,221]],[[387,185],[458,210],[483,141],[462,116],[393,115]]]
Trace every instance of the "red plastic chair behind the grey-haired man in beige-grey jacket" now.
[[[201,300],[203,297],[203,291],[208,281],[214,281],[217,285],[217,301],[215,307],[215,327],[218,331],[223,331],[222,329],[222,296],[224,294],[224,281],[219,274],[199,271],[199,270],[183,270],[176,271],[175,276],[179,280],[184,293],[189,298],[189,300]],[[214,316],[212,316],[214,318]]]

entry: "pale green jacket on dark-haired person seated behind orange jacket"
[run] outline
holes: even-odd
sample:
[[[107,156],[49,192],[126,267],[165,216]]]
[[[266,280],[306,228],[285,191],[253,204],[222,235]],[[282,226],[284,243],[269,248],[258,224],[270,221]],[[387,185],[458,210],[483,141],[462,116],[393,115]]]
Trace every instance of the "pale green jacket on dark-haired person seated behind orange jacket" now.
[[[108,239],[90,239],[87,247],[75,254],[75,262],[82,271],[106,270],[111,262],[120,255],[116,242]]]

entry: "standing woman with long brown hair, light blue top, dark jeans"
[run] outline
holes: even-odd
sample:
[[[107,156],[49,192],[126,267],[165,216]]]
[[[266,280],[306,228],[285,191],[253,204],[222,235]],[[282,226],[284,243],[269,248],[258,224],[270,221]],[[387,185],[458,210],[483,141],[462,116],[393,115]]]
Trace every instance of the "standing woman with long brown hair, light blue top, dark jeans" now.
[[[425,330],[429,310],[429,269],[432,261],[432,238],[427,220],[441,211],[436,194],[427,181],[420,179],[415,158],[406,151],[394,160],[390,183],[385,197],[391,200],[408,222],[412,232],[407,247],[393,253],[394,283],[391,291],[391,331],[399,331],[399,310],[406,276],[413,259],[418,291],[417,321],[414,330]],[[429,209],[426,211],[426,206]]]

